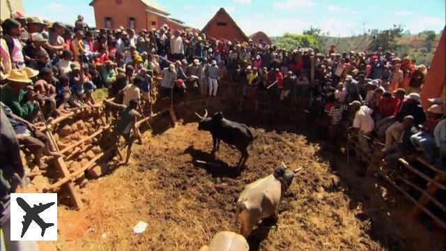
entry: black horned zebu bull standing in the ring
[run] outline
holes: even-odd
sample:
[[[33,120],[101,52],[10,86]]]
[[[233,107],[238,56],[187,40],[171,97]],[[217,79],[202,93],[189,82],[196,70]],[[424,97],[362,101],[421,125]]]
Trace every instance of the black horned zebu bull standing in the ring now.
[[[197,116],[200,118],[198,130],[206,130],[212,134],[213,149],[211,154],[215,155],[215,152],[218,151],[220,140],[226,144],[236,146],[236,149],[242,153],[237,164],[237,170],[240,172],[241,168],[245,167],[245,162],[249,157],[247,147],[254,141],[251,130],[243,123],[224,119],[222,112],[217,112],[214,116],[208,117],[208,110],[206,109],[203,116],[199,114]]]

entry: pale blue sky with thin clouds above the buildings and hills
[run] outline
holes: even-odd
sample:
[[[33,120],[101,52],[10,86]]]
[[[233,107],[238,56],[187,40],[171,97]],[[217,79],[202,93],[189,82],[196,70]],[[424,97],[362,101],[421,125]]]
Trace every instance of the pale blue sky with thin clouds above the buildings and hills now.
[[[112,1],[112,0],[109,0]],[[221,7],[247,36],[302,33],[309,26],[330,36],[361,34],[364,29],[389,29],[401,24],[410,33],[445,27],[446,0],[157,0],[171,17],[203,29]],[[23,0],[26,15],[74,23],[78,14],[94,26],[91,0]]]

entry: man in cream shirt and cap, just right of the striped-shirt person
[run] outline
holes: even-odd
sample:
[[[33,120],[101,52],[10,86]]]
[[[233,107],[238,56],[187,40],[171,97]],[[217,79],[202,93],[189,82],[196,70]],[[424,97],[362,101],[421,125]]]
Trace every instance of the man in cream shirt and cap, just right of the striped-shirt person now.
[[[366,137],[370,137],[371,132],[374,130],[375,123],[374,119],[371,117],[374,110],[367,107],[367,105],[361,105],[361,102],[357,100],[348,105],[356,111],[355,119],[353,119],[353,126],[348,128],[348,130],[357,131],[357,143],[359,144],[360,149],[365,153],[369,153],[371,152],[371,148]]]

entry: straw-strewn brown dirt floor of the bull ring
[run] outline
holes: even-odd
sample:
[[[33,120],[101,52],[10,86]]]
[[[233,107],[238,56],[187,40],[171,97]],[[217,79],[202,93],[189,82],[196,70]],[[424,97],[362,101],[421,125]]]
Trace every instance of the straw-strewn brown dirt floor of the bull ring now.
[[[263,220],[248,238],[250,250],[436,250],[442,245],[441,234],[395,216],[401,208],[392,209],[394,201],[383,199],[385,188],[364,185],[354,162],[346,166],[341,154],[299,133],[265,128],[253,128],[257,138],[240,176],[231,167],[239,153],[222,144],[213,160],[212,138],[198,131],[197,123],[144,133],[144,145],[134,146],[129,166],[81,190],[82,211],[59,206],[59,241],[43,247],[199,250],[218,231],[238,231],[234,208],[240,192],[282,161],[302,170],[286,192],[279,221]],[[133,234],[139,220],[148,227]]]

